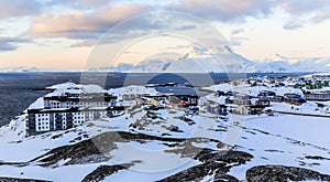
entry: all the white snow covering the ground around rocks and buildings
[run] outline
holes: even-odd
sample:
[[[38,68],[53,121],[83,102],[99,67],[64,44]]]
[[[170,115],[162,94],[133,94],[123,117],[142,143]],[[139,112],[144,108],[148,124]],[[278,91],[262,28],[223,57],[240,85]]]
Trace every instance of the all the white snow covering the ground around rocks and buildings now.
[[[67,89],[68,86],[72,85],[66,83],[50,88]],[[84,86],[80,86],[80,88],[84,88]],[[99,87],[94,88],[99,90]],[[285,93],[299,94],[299,89],[293,87],[249,87],[248,84],[237,86],[221,84],[204,89],[213,92],[219,89],[223,92],[246,90],[253,96],[256,96],[261,90],[274,90],[278,95]],[[108,93],[119,97],[122,93],[156,94],[154,88],[142,86],[110,89]],[[202,99],[223,101],[213,94],[207,95]],[[31,107],[40,108],[42,104],[43,99],[40,98]],[[327,103],[324,105],[329,106]],[[272,103],[271,107],[277,111],[329,115],[327,110],[316,110],[318,106],[314,101],[307,101],[301,106]],[[153,115],[153,117],[150,115]],[[0,128],[0,176],[52,181],[68,181],[69,176],[70,181],[81,181],[101,164],[113,165],[135,162],[129,170],[114,172],[107,176],[105,181],[128,181],[131,179],[135,181],[155,181],[200,163],[191,156],[174,152],[174,149],[179,147],[169,146],[175,142],[145,139],[143,141],[116,141],[116,148],[106,153],[109,157],[107,161],[65,165],[67,160],[70,160],[65,159],[57,162],[55,168],[41,167],[37,162],[30,162],[28,165],[22,164],[22,162],[31,161],[52,149],[79,143],[108,131],[143,133],[167,139],[194,138],[198,140],[193,141],[191,146],[200,149],[224,150],[230,146],[234,146],[234,150],[245,151],[254,157],[246,164],[230,170],[229,174],[240,180],[244,180],[248,169],[261,164],[304,167],[330,174],[330,121],[327,117],[276,113],[275,116],[229,114],[227,117],[219,117],[207,113],[204,106],[200,106],[199,115],[188,115],[184,109],[167,107],[160,110],[147,110],[142,106],[132,108],[116,118],[88,121],[69,130],[25,137],[26,116],[26,114],[18,116],[8,126]],[[219,141],[229,146],[219,147]],[[11,162],[19,162],[20,164]]]

